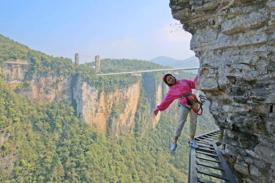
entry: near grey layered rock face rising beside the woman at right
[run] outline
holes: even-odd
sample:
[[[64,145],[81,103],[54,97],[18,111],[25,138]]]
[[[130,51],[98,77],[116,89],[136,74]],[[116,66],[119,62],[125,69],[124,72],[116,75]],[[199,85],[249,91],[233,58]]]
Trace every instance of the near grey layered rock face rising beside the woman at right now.
[[[275,98],[275,1],[170,0],[200,59],[197,89],[208,96],[245,92]],[[275,107],[265,98],[210,98],[224,131],[224,153],[239,182],[274,182]],[[262,121],[257,134],[255,120]]]

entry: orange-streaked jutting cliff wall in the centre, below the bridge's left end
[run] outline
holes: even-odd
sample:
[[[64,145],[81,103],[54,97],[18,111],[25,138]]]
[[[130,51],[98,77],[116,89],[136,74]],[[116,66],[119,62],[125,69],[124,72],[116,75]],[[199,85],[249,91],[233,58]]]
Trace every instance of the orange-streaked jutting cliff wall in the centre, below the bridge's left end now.
[[[85,122],[96,126],[103,133],[119,135],[127,133],[134,125],[134,115],[138,106],[140,83],[115,92],[98,91],[95,86],[77,79],[73,95],[77,104],[77,115]],[[113,107],[118,105],[118,116],[111,119]]]

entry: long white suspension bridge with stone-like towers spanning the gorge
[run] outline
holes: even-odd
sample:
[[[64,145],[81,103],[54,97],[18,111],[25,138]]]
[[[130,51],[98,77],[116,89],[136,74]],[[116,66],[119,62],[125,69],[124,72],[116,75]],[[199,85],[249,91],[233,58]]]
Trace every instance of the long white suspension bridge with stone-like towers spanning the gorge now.
[[[92,57],[89,55],[80,55],[82,57]],[[167,71],[170,73],[177,74],[177,71],[179,70],[195,70],[199,69],[199,67],[192,67],[192,65],[196,64],[196,62],[199,59],[188,61],[185,63],[173,65],[173,66],[163,66],[156,69],[142,69],[142,70],[131,70],[131,69],[125,69],[121,67],[116,67],[114,65],[111,65],[104,60],[100,60],[99,55],[95,56],[95,60],[92,60],[90,62],[90,67],[96,70],[96,73],[98,76],[101,75],[115,75],[115,74],[131,74],[133,76],[141,76],[141,73],[144,72],[161,72],[161,71]],[[75,63],[79,63],[79,55],[76,53],[75,56]]]

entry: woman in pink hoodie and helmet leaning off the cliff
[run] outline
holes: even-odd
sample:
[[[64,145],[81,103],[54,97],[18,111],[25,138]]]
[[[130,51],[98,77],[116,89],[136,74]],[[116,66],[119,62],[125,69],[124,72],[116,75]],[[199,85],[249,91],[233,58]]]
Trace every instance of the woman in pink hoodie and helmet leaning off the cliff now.
[[[198,80],[196,77],[194,81],[191,80],[176,80],[174,76],[171,74],[165,74],[162,78],[163,82],[165,82],[170,88],[166,94],[166,97],[160,103],[160,105],[156,106],[156,110],[154,111],[155,116],[158,114],[158,111],[164,111],[168,108],[168,106],[177,98],[181,98],[180,101],[180,114],[178,117],[178,124],[174,133],[174,141],[171,145],[171,151],[175,151],[177,148],[177,140],[180,134],[182,133],[182,128],[184,123],[186,122],[188,113],[190,114],[190,125],[189,125],[189,135],[190,139],[188,139],[188,145],[193,146],[194,148],[199,148],[194,140],[194,136],[197,128],[197,113],[191,110],[191,105],[193,104],[193,99],[197,100],[196,95],[192,94],[191,89],[196,89],[195,82]],[[199,108],[199,104],[196,102],[193,104],[193,108],[197,111]]]

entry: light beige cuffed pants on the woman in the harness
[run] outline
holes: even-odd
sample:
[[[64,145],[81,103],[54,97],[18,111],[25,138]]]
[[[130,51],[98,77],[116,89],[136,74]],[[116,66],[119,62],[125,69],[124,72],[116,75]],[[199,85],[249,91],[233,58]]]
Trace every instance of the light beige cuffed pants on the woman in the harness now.
[[[191,106],[187,106],[188,108],[191,108]],[[198,110],[199,104],[195,103],[193,108],[195,110]],[[179,137],[180,134],[182,133],[182,128],[184,126],[184,123],[186,122],[187,116],[189,113],[189,118],[190,118],[190,125],[189,125],[189,135],[195,135],[196,133],[196,128],[197,128],[197,113],[195,113],[192,109],[189,111],[183,106],[180,106],[180,115],[178,116],[178,124],[175,129],[174,136]]]

